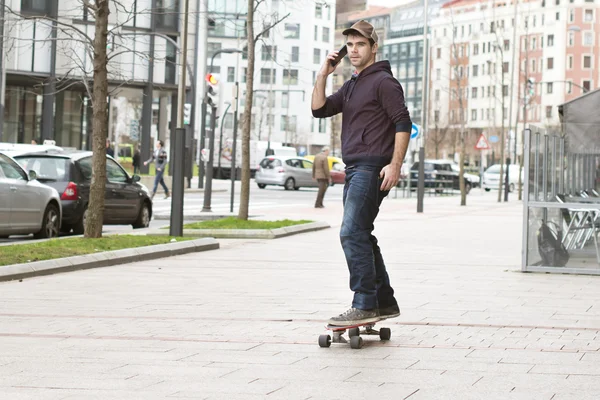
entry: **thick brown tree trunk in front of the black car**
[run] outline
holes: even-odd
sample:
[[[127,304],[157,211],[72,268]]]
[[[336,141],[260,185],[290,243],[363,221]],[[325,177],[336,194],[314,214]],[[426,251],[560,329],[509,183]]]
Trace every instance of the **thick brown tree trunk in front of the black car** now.
[[[108,2],[96,0],[96,33],[94,36],[94,86],[92,121],[92,185],[85,221],[85,237],[102,237],[104,219],[104,192],[106,190],[106,137],[108,133]]]

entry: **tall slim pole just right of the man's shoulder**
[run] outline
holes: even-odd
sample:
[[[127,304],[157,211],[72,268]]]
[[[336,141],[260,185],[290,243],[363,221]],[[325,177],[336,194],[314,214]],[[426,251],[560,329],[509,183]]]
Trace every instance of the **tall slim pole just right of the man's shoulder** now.
[[[423,23],[423,94],[421,96],[421,147],[419,148],[419,181],[417,183],[417,212],[423,212],[423,200],[425,198],[425,139],[427,131],[427,94],[429,92],[429,2],[423,3],[425,21]],[[404,160],[403,160],[404,161]],[[410,188],[408,188],[410,191]]]

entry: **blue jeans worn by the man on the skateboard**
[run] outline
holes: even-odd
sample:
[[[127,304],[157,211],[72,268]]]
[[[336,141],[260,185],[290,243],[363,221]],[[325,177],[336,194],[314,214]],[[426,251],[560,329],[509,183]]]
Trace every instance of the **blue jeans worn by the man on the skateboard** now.
[[[346,169],[340,240],[350,271],[350,289],[354,292],[352,307],[361,310],[398,304],[377,238],[372,235],[379,206],[388,195],[379,189],[380,172],[381,168],[369,166]]]

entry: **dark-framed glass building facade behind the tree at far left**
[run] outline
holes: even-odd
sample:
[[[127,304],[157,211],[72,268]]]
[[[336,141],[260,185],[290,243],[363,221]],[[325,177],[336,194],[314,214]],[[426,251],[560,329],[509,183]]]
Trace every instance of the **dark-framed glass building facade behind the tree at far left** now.
[[[178,0],[120,0],[109,15],[109,138],[142,143],[168,139],[175,120],[180,15]],[[190,11],[195,13],[196,8]],[[94,21],[78,0],[7,0],[6,75],[0,141],[88,149],[91,135]],[[44,15],[49,17],[31,18]],[[53,22],[57,20],[58,23]],[[189,24],[194,54],[195,25]],[[193,62],[193,56],[187,63]],[[191,86],[188,86],[188,90]]]

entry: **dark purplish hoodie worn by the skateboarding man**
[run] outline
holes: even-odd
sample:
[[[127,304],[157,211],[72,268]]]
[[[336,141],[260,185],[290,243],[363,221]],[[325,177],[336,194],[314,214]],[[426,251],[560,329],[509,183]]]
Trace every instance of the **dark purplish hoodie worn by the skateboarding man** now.
[[[389,61],[379,61],[344,83],[313,110],[315,118],[342,113],[344,163],[384,167],[392,161],[396,132],[410,132],[412,122],[404,91]]]

